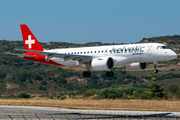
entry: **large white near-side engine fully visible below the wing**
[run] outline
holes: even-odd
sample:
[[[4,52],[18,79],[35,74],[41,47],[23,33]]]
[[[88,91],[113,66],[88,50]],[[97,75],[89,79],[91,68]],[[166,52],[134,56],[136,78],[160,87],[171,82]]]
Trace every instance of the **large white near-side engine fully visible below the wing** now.
[[[94,58],[91,67],[94,71],[111,70],[114,67],[114,60],[111,57]]]

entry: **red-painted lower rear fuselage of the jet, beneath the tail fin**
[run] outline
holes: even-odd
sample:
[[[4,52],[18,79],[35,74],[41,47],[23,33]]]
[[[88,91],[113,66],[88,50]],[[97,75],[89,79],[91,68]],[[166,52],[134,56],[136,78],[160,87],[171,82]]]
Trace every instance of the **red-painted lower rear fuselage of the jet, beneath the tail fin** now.
[[[26,54],[26,55],[32,55],[32,54]],[[33,53],[33,55],[34,55],[34,53]],[[56,62],[54,62],[54,61],[52,61],[50,59],[46,59],[46,56],[42,56],[42,55],[39,55],[37,53],[36,53],[35,57],[25,57],[24,56],[23,58],[27,59],[27,60],[37,61],[37,62],[51,64],[51,65],[65,66],[65,65],[56,63]]]

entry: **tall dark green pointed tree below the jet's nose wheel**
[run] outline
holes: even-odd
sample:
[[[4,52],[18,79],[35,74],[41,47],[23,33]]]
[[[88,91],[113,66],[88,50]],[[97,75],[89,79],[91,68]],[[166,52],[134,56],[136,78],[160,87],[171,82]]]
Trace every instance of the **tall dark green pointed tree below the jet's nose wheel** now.
[[[155,77],[152,77],[151,83],[148,87],[151,89],[151,97],[164,97],[164,87],[156,83],[157,80]]]

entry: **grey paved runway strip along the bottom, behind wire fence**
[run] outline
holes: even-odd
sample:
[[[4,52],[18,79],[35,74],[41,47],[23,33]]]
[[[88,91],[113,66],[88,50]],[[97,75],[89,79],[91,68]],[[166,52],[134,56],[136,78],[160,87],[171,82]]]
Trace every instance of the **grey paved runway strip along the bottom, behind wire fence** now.
[[[84,110],[57,107],[6,106],[0,105],[0,119],[180,119],[180,112]]]

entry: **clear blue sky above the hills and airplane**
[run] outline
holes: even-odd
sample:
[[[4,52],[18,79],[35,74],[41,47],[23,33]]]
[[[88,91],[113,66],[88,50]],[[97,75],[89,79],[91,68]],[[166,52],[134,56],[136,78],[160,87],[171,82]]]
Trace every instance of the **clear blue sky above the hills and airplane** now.
[[[0,0],[0,40],[129,43],[180,35],[180,0]]]

